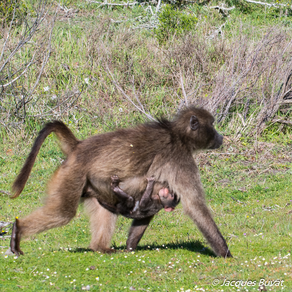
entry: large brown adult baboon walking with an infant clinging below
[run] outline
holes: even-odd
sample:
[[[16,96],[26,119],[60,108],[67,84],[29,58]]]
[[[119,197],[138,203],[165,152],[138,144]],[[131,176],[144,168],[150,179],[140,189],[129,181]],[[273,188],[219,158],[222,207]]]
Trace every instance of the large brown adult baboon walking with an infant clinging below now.
[[[187,108],[173,121],[160,119],[133,128],[78,140],[61,121],[46,124],[36,138],[18,177],[13,183],[14,198],[23,190],[44,139],[54,132],[67,159],[53,174],[47,186],[46,204],[24,218],[16,219],[11,236],[11,251],[23,254],[20,239],[67,224],[75,215],[78,202],[88,188],[95,197],[109,205],[118,198],[111,189],[110,176],[116,173],[119,187],[133,199],[140,200],[146,178],[167,182],[171,193],[181,200],[189,215],[218,256],[231,256],[225,239],[206,206],[203,185],[193,153],[216,149],[223,137],[213,127],[213,116],[204,109]],[[124,185],[123,185],[124,184]],[[100,206],[96,198],[85,198],[90,214],[90,248],[109,249],[117,214]],[[134,219],[127,249],[135,248],[152,216]]]

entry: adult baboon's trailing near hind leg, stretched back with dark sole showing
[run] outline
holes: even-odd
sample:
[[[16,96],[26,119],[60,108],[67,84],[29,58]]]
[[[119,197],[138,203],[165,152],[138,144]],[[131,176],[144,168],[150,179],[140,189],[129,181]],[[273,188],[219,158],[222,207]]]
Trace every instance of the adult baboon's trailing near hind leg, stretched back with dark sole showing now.
[[[75,177],[58,169],[47,187],[45,205],[24,218],[16,219],[12,228],[11,251],[23,254],[20,239],[53,227],[67,224],[75,215],[81,196],[82,177]]]

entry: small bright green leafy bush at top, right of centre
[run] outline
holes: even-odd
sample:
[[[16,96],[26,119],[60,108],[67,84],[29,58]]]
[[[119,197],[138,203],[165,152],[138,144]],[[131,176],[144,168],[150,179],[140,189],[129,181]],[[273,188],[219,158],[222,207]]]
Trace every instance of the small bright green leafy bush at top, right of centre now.
[[[153,29],[159,43],[164,43],[171,36],[183,36],[186,32],[192,31],[197,24],[197,17],[191,13],[186,13],[173,8],[170,5],[165,6],[158,15],[159,24]]]

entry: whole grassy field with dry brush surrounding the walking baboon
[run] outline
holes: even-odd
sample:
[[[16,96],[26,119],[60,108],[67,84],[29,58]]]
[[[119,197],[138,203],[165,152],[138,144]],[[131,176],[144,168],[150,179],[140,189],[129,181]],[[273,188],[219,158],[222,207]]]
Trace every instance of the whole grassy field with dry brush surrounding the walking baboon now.
[[[68,225],[22,240],[25,256],[5,256],[11,225],[0,230],[1,291],[292,290],[291,130],[287,123],[270,119],[260,135],[254,132],[259,123],[254,117],[274,105],[272,98],[261,102],[263,95],[270,96],[281,85],[281,72],[273,68],[278,64],[285,72],[291,57],[291,50],[285,55],[282,49],[291,41],[291,11],[285,14],[286,7],[265,9],[243,0],[226,3],[236,6],[230,17],[205,8],[207,2],[187,3],[182,10],[187,17],[176,16],[186,26],[169,31],[163,15],[156,29],[149,28],[154,18],[148,4],[104,7],[73,0],[61,3],[72,10],[59,11],[52,27],[57,8],[53,3],[44,29],[0,72],[9,77],[9,70],[21,72],[34,53],[39,56],[0,96],[0,221],[13,222],[15,216],[41,206],[46,181],[64,159],[50,135],[24,191],[9,199],[11,184],[45,121],[62,119],[84,139],[147,121],[141,110],[153,117],[171,117],[183,105],[182,75],[189,104],[210,105],[218,118],[216,127],[225,135],[219,150],[198,154],[196,159],[208,206],[233,258],[214,255],[181,205],[154,217],[136,251],[122,252],[131,220],[120,217],[112,246],[121,252],[93,253],[87,248],[90,228],[80,205]],[[187,26],[190,23],[193,29]],[[50,28],[51,53],[37,80],[48,53],[45,41]],[[23,25],[13,27],[6,56],[23,31]],[[0,48],[7,32],[2,28]],[[263,49],[258,49],[262,43]],[[257,49],[263,52],[258,53],[259,60],[250,53]],[[275,57],[278,53],[283,53],[281,58]],[[252,72],[240,75],[248,66]],[[237,87],[232,87],[233,81]],[[239,93],[227,109],[227,95],[225,101],[218,97],[230,88],[239,88]],[[288,120],[290,111],[284,100],[274,114]]]

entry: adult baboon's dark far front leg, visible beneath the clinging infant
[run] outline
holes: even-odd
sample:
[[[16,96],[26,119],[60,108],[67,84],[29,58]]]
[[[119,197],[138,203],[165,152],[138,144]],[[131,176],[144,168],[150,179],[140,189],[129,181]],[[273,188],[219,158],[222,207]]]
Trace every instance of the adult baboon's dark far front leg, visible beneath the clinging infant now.
[[[128,239],[127,239],[127,251],[131,251],[136,249],[140,239],[142,238],[147,226],[149,225],[150,221],[154,215],[149,216],[143,219],[134,219],[132,225],[130,227]]]

